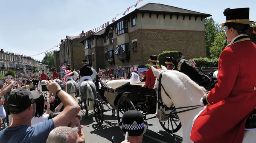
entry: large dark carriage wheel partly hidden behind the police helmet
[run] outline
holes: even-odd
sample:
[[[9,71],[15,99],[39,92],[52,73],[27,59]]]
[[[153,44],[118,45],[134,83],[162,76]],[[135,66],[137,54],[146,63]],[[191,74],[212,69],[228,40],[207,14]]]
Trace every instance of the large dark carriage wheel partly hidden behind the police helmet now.
[[[122,96],[119,98],[116,109],[117,109],[116,116],[117,116],[118,123],[122,121],[122,115],[126,111],[136,110],[131,100],[125,96]]]

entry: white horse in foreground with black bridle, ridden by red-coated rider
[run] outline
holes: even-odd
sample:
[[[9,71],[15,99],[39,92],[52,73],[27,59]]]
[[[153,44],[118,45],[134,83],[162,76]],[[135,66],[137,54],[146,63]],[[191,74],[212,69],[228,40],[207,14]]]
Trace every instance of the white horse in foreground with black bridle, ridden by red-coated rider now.
[[[167,70],[166,67],[162,66],[162,70],[157,70],[152,67],[152,71],[157,78],[159,78],[161,71]],[[159,81],[156,81],[155,88],[158,88]],[[206,95],[206,90],[204,87],[200,87],[194,81],[192,81],[185,74],[175,71],[168,70],[162,74],[161,84],[163,88],[166,90],[166,93],[172,98],[170,99],[163,88],[161,88],[160,94],[162,98],[162,102],[167,107],[172,107],[173,105],[176,108],[179,107],[188,107],[195,106],[199,104],[200,99]],[[168,85],[168,88],[167,88]],[[192,107],[191,107],[192,108]],[[187,108],[186,108],[187,109]],[[180,122],[182,124],[183,130],[183,143],[193,143],[190,140],[190,133],[192,130],[192,125],[198,115],[204,110],[206,107],[200,107],[197,109],[192,109],[186,112],[178,113]],[[177,112],[185,109],[177,109]],[[169,117],[164,115],[169,114],[171,111],[165,111],[160,106],[160,110],[158,109],[157,103],[157,112],[156,116],[160,121],[167,121]],[[216,131],[218,132],[218,131]],[[256,140],[256,131],[246,131],[244,132],[244,139],[242,143],[255,143]]]

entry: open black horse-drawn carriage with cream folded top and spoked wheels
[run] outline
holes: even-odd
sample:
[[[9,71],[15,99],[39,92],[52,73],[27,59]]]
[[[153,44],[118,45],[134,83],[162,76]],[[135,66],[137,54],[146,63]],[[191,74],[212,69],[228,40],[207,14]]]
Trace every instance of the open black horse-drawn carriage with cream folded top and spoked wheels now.
[[[141,88],[145,82],[130,84],[129,80],[102,81],[98,79],[98,81],[101,84],[101,89],[99,90],[99,97],[94,100],[93,112],[99,125],[103,123],[104,112],[111,110],[113,112],[115,109],[117,110],[118,122],[122,121],[122,115],[128,110],[141,111],[145,121],[156,118],[155,115],[146,118],[146,115],[156,112],[157,94],[154,89]],[[108,104],[111,105],[112,109]],[[104,105],[108,109],[104,109]],[[169,133],[175,133],[181,128],[177,114],[170,115],[168,121],[160,122],[160,124]]]

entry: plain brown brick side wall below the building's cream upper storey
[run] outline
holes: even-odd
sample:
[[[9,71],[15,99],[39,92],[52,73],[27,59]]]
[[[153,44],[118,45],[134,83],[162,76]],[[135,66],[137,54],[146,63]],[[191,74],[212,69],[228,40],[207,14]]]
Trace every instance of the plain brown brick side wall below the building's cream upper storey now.
[[[180,51],[186,59],[206,56],[204,31],[146,31],[143,29],[136,33],[142,37],[141,42],[138,39],[138,50],[143,48],[143,64],[148,63],[150,55],[158,55],[166,50]]]

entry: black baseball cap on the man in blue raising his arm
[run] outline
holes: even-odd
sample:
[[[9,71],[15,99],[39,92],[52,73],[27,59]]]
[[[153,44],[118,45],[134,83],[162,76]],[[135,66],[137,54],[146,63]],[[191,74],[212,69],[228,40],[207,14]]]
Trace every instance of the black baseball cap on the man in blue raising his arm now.
[[[13,90],[7,98],[7,108],[12,114],[19,114],[33,103],[36,99],[40,97],[37,91],[29,91],[25,89]]]

